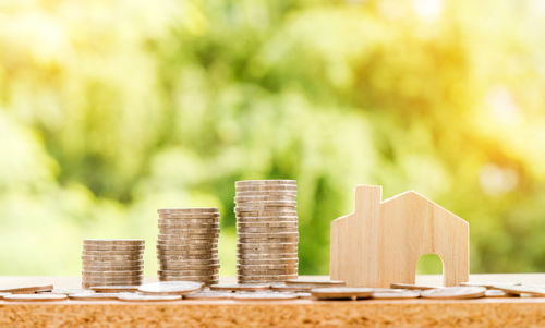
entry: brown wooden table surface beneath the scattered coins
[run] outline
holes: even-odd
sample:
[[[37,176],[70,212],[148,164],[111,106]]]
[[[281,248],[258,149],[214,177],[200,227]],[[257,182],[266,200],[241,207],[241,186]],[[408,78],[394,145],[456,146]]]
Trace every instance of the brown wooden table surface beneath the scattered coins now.
[[[304,277],[312,278],[312,277]],[[317,277],[316,278],[324,278]],[[147,279],[154,281],[155,279]],[[232,281],[225,278],[222,281]],[[545,274],[472,275],[472,282],[545,284]],[[419,276],[440,284],[440,276]],[[0,277],[0,288],[53,283],[80,288],[80,277]],[[391,301],[190,301],[128,303],[0,301],[0,327],[545,327],[545,297]]]

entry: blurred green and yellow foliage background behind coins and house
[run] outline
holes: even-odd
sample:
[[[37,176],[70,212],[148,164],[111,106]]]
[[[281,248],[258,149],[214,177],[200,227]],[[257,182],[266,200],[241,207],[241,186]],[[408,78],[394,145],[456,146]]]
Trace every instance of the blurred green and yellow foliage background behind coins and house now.
[[[359,183],[470,221],[472,272],[545,270],[544,41],[541,0],[1,1],[0,275],[78,275],[84,238],[145,238],[154,275],[184,206],[234,275],[234,181],[267,178],[301,274]]]

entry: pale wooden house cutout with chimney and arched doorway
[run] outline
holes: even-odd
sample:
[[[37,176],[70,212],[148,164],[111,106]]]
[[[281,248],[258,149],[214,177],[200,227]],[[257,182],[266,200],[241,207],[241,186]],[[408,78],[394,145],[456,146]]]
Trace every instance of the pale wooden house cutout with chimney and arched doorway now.
[[[350,287],[414,283],[422,255],[443,260],[444,284],[469,279],[469,223],[416,192],[382,201],[358,185],[354,212],[331,222],[330,276]]]

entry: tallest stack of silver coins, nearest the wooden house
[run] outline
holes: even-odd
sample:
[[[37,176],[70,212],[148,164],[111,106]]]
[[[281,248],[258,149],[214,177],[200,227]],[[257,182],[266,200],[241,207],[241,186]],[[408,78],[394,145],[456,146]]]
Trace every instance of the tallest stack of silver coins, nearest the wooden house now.
[[[239,283],[298,277],[295,180],[237,181],[237,278]]]

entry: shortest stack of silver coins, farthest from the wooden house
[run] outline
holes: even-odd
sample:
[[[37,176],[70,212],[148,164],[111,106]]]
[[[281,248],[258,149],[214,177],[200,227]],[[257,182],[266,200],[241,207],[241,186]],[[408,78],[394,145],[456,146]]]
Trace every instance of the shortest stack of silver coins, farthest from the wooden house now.
[[[142,283],[144,240],[83,241],[82,287]]]

